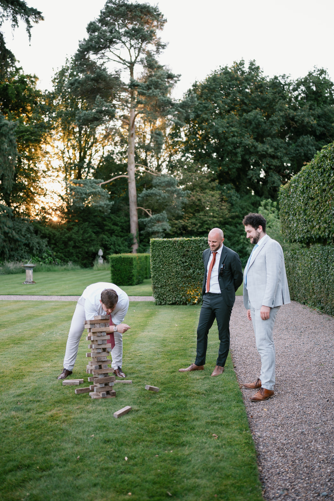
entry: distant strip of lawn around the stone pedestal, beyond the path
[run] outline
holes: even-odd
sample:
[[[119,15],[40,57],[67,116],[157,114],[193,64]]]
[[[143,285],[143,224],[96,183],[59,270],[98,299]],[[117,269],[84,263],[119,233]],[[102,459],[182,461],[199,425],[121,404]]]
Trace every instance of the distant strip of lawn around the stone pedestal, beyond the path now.
[[[26,275],[1,275],[0,295],[32,295],[32,296],[81,296],[84,289],[96,282],[110,282],[109,271],[76,270],[69,272],[36,272],[36,284],[23,284]],[[118,284],[116,284],[118,285]],[[133,287],[122,289],[129,296],[152,296],[151,279]]]

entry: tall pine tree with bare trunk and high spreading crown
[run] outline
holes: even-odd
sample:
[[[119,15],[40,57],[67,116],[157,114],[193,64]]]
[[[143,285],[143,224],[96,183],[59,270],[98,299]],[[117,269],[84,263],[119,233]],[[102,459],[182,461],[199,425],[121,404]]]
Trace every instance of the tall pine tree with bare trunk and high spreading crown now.
[[[133,4],[128,0],[108,0],[99,18],[87,27],[88,39],[80,43],[76,58],[94,58],[119,71],[122,77],[117,118],[127,130],[127,174],[130,231],[133,252],[137,251],[138,214],[136,190],[136,128],[138,117],[151,126],[150,144],[157,147],[161,134],[153,127],[157,115],[170,113],[169,93],[177,77],[157,62],[165,45],[158,37],[166,20],[158,7]],[[144,120],[144,121],[145,121]],[[144,169],[145,169],[144,165]]]

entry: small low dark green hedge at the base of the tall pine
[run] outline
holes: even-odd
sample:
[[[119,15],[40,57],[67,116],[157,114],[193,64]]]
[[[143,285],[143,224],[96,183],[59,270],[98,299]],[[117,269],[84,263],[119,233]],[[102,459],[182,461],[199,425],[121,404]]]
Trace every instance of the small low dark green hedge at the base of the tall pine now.
[[[151,276],[149,254],[112,254],[109,261],[111,281],[118,286],[141,284]]]

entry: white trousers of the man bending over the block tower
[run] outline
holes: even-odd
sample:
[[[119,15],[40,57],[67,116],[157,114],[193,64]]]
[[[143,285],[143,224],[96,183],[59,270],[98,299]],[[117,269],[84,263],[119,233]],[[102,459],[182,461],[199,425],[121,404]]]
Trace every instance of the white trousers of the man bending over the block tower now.
[[[79,341],[85,329],[86,315],[85,315],[84,305],[85,305],[84,298],[80,298],[72,318],[69,337],[66,343],[64,369],[67,369],[69,371],[73,370],[78,354]],[[112,358],[111,366],[113,369],[116,369],[118,366],[122,367],[123,340],[122,340],[122,334],[120,332],[114,332],[114,335],[115,335],[115,347],[111,351],[111,358]]]

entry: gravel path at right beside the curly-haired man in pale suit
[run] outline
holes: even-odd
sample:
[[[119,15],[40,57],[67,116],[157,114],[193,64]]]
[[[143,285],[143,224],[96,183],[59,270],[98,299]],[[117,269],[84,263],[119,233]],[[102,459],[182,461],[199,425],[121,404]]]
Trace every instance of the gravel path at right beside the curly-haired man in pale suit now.
[[[260,375],[242,297],[231,315],[231,353],[241,386]],[[254,403],[242,387],[265,499],[334,499],[334,318],[299,303],[274,328],[275,396]]]

